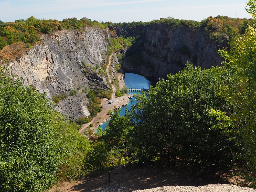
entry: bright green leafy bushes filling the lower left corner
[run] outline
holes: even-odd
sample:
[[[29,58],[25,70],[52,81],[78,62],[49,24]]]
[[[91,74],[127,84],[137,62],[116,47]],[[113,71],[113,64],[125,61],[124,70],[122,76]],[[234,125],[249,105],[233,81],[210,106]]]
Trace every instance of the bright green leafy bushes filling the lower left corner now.
[[[24,87],[2,68],[0,78],[0,191],[45,191],[57,168],[84,154],[88,141],[52,110],[46,93]]]

